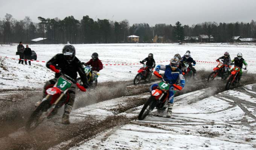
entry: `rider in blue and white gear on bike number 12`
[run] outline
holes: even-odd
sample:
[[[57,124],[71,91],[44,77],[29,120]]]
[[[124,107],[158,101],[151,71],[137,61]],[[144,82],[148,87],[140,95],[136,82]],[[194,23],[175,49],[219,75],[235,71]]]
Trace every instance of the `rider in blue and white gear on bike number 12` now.
[[[177,80],[180,80],[180,86],[184,88],[185,86],[185,79],[182,75],[182,71],[178,68],[179,66],[179,59],[177,57],[174,57],[171,59],[171,63],[169,65],[157,65],[155,67],[155,71],[159,72],[160,70],[165,71],[165,74],[163,76],[163,79],[165,81],[169,81],[170,84],[175,84]],[[157,88],[157,84],[153,84],[151,86],[151,91]],[[168,110],[167,110],[167,117],[171,117],[172,115],[172,107],[173,107],[173,101],[174,101],[174,87],[170,86],[169,89],[169,97],[168,97]]]

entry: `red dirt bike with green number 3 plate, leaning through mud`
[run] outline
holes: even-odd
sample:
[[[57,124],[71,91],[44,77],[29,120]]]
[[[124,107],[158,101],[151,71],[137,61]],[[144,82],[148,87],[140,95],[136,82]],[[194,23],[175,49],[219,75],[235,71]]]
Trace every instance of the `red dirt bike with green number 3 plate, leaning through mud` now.
[[[76,83],[71,77],[64,73],[60,74],[61,76],[59,76],[55,85],[49,85],[46,88],[46,97],[43,98],[40,105],[30,115],[26,123],[28,131],[35,129],[44,119],[52,116],[53,110],[56,111],[56,109],[69,102],[69,92],[67,91],[72,87],[72,84],[76,84],[80,91],[86,91],[83,86]]]

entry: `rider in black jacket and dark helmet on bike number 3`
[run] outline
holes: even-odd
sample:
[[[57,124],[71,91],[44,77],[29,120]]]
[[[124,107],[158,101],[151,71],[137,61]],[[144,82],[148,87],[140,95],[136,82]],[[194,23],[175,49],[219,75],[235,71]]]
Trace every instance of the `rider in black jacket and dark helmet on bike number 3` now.
[[[87,78],[85,76],[84,68],[81,62],[75,56],[76,50],[73,45],[66,45],[62,49],[62,53],[58,53],[52,59],[46,63],[46,67],[55,72],[55,78],[49,80],[44,85],[44,97],[46,96],[46,88],[50,85],[54,85],[60,76],[60,72],[67,74],[72,79],[76,80],[77,72],[79,73],[81,80],[83,82],[84,88],[88,88]],[[69,124],[69,114],[72,111],[72,106],[75,101],[75,88],[76,84],[72,84],[69,92],[69,102],[65,105],[64,114],[62,116],[62,123]],[[40,104],[40,103],[39,103]]]

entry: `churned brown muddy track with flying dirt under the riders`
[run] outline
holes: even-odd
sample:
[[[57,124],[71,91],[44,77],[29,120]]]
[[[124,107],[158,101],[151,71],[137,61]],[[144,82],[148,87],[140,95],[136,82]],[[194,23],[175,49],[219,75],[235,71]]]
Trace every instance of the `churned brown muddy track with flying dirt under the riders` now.
[[[186,84],[186,88],[184,88],[183,91],[177,92],[177,95],[186,94],[188,92],[196,91],[199,89],[205,89],[211,87],[211,91],[208,95],[215,95],[219,92],[224,91],[225,83],[222,81],[215,81],[212,83],[206,82],[206,77],[208,76],[210,72],[204,72],[204,73],[198,73],[200,74],[200,79],[197,81],[192,81],[190,83]],[[250,84],[255,83],[256,79],[252,74],[244,74],[242,83],[244,84]],[[129,82],[106,82],[102,83],[97,89],[94,91],[88,91],[87,95],[84,96],[81,93],[78,93],[78,97],[75,103],[75,108],[84,107],[86,105],[94,104],[97,102],[123,97],[123,96],[131,96],[131,95],[138,95],[147,93],[149,89],[149,85],[152,83],[146,83],[146,84],[140,84],[136,86],[132,86],[132,81]],[[243,85],[244,85],[243,84]],[[242,86],[242,85],[241,85]],[[110,91],[110,93],[108,93]],[[116,92],[116,95],[108,96],[107,94],[112,94],[112,92]],[[147,95],[147,94],[143,94]],[[30,97],[40,97],[40,91],[35,92],[35,95],[30,95]],[[198,98],[198,100],[202,99],[204,97]],[[87,101],[84,101],[86,99]],[[21,98],[22,100],[22,98]],[[26,97],[24,97],[24,100],[27,100]],[[133,97],[125,99],[123,103],[126,105],[120,104],[120,107],[113,109],[112,111],[114,114],[120,114],[123,113],[131,108],[137,107],[139,105],[144,104],[146,98],[136,98]],[[130,120],[133,120],[134,118],[126,118],[123,116],[114,116],[114,117],[108,117],[103,122],[99,122],[99,120],[88,117],[83,122],[80,122],[78,124],[71,124],[71,125],[62,125],[58,122],[47,122],[46,125],[40,126],[40,128],[36,129],[33,132],[26,133],[24,132],[24,129],[19,129],[18,132],[15,132],[15,140],[13,140],[13,137],[9,135],[9,137],[6,137],[11,132],[17,131],[18,128],[24,126],[24,122],[27,119],[27,116],[31,113],[31,110],[33,108],[35,99],[30,99],[25,102],[29,103],[26,105],[23,105],[21,109],[17,109],[15,111],[15,114],[13,114],[13,110],[10,110],[10,106],[14,107],[17,105],[20,105],[20,102],[14,102],[14,104],[10,105],[9,108],[6,108],[6,111],[2,113],[1,116],[1,123],[0,126],[3,128],[0,134],[0,149],[40,149],[40,150],[46,150],[50,147],[53,147],[61,142],[69,141],[69,143],[64,144],[64,146],[59,147],[59,149],[68,149],[69,147],[75,146],[76,143],[79,143],[80,141],[83,141],[87,138],[92,137],[93,135],[98,134],[99,132],[102,132],[106,129],[113,128],[117,125],[123,125],[129,122]],[[195,101],[197,101],[195,99]],[[22,103],[25,103],[24,101]],[[194,102],[194,101],[192,101]],[[192,103],[191,102],[191,103]],[[26,116],[27,114],[27,116]],[[40,134],[38,134],[40,133]],[[53,134],[54,133],[54,134]],[[18,134],[18,135],[17,135]],[[20,135],[19,135],[20,134]],[[2,137],[2,138],[1,138]],[[2,141],[1,141],[2,140]],[[6,144],[1,144],[2,142],[5,142]],[[4,147],[3,147],[4,146]]]

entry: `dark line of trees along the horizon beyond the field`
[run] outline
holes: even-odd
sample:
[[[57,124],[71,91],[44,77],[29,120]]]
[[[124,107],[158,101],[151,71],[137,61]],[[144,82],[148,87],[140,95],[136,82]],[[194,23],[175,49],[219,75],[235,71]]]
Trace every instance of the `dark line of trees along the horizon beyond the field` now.
[[[64,19],[38,17],[39,23],[32,22],[29,16],[23,20],[16,20],[11,14],[6,14],[0,20],[0,43],[30,43],[31,39],[44,37],[51,43],[125,43],[126,37],[136,35],[139,42],[150,43],[154,35],[162,36],[165,42],[182,42],[184,37],[199,36],[201,34],[214,37],[215,42],[232,42],[233,36],[256,38],[256,22],[203,22],[194,25],[147,23],[133,24],[128,20],[120,22],[108,19],[93,20],[83,16],[81,20],[73,16]]]

